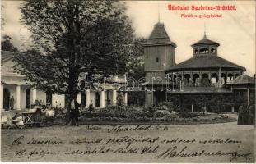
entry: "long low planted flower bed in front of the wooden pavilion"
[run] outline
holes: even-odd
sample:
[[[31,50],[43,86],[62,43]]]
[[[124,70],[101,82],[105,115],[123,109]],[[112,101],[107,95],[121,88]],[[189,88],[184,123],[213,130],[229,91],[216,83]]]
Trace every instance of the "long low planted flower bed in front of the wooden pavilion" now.
[[[236,121],[225,115],[201,112],[143,112],[133,107],[106,107],[100,112],[82,112],[80,124],[85,125],[192,125]]]

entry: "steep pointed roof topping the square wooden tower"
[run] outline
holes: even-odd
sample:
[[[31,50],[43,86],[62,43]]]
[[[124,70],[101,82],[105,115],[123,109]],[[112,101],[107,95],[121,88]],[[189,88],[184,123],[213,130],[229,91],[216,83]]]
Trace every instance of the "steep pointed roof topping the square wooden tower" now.
[[[151,46],[151,45],[165,45],[170,44],[173,47],[177,47],[175,43],[170,41],[170,38],[165,30],[165,25],[161,23],[157,23],[154,26],[153,31],[147,42],[144,43],[144,46]]]

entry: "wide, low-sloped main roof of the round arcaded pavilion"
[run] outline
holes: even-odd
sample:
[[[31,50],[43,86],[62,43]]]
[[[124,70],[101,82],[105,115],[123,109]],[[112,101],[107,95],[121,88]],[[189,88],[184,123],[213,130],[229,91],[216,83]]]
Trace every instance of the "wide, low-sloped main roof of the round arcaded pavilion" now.
[[[171,71],[203,69],[203,68],[228,68],[231,70],[244,71],[243,66],[236,65],[216,55],[195,55],[188,60],[170,68]]]

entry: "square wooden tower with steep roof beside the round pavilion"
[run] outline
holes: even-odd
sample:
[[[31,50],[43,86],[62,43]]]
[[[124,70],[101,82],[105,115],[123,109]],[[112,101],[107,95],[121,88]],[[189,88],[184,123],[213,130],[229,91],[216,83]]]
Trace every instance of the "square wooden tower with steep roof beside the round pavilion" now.
[[[157,23],[147,42],[144,43],[144,71],[146,73],[147,87],[156,89],[157,85],[153,79],[165,80],[165,71],[175,66],[175,48],[176,44],[170,41],[165,31],[165,25]],[[146,93],[145,105],[154,103],[152,93]]]

